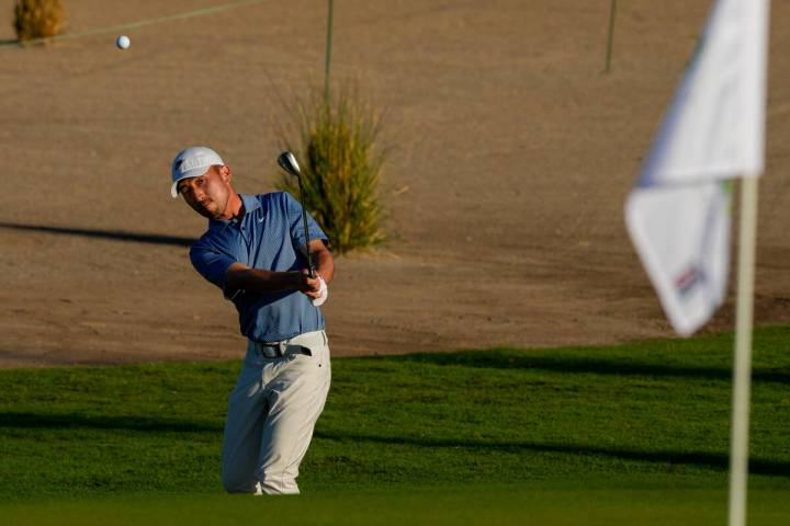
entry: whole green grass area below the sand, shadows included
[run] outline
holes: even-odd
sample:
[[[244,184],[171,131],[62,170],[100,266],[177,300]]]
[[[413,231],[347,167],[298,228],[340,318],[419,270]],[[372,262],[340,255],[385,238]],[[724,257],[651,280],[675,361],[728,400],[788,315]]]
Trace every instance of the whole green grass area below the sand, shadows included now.
[[[273,504],[224,495],[218,480],[237,363],[4,370],[0,510],[36,510],[35,524],[143,502],[149,512],[138,513],[151,514],[189,503],[198,523],[211,516],[206,506],[261,505],[303,522],[326,512],[316,524],[330,523],[332,510],[343,514],[338,524],[381,513],[403,522],[407,512],[420,524],[454,514],[479,524],[523,514],[540,524],[618,514],[722,523],[731,363],[729,334],[335,359],[301,469],[304,494]],[[790,328],[755,332],[752,402],[749,524],[781,524],[790,521]]]

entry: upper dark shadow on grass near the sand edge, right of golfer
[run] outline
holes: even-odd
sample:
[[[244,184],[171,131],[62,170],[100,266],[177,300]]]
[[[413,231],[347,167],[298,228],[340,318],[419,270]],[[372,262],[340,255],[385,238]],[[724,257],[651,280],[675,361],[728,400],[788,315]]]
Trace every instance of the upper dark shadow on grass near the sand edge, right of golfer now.
[[[707,380],[732,380],[732,370],[724,367],[689,367],[679,365],[644,364],[625,359],[587,358],[568,356],[535,356],[515,354],[509,351],[461,351],[456,353],[416,353],[395,357],[371,359],[397,359],[431,365],[460,365],[493,369],[540,369],[556,373],[596,374],[612,376],[679,377]],[[790,370],[785,368],[755,368],[754,381],[790,384]]]

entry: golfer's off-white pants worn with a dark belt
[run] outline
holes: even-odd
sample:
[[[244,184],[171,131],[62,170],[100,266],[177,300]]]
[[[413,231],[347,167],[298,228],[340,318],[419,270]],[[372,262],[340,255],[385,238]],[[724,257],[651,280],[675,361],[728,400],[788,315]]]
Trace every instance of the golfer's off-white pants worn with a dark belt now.
[[[329,346],[316,331],[282,348],[283,356],[271,358],[255,343],[247,346],[225,423],[222,480],[229,492],[298,493],[298,466],[329,391]]]

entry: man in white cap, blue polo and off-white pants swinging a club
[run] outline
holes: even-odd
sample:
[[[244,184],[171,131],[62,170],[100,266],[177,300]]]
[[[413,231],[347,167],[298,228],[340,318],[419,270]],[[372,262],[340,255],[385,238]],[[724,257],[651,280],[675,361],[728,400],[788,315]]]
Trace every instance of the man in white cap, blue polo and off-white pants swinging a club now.
[[[208,229],[190,249],[195,270],[239,313],[247,355],[228,401],[222,480],[229,492],[298,493],[298,466],[329,390],[329,347],[317,305],[335,271],[326,236],[284,192],[237,194],[232,172],[205,147],[172,162],[179,194]],[[306,264],[315,262],[315,278]]]

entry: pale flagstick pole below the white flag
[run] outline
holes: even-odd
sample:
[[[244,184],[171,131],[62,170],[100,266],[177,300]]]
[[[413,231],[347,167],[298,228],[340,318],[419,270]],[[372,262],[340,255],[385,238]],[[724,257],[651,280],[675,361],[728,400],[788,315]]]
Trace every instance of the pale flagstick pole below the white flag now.
[[[747,176],[741,180],[735,367],[733,369],[733,418],[730,445],[730,526],[746,524],[756,227],[757,178]]]

